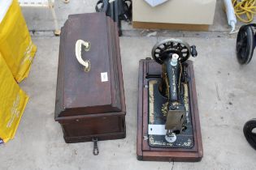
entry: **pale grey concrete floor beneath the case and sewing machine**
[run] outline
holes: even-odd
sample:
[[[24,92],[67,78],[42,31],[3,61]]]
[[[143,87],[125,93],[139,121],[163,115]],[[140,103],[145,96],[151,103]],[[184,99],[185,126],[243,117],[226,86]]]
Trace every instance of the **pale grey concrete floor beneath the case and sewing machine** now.
[[[93,11],[95,2],[71,0],[67,5],[58,2],[60,23],[67,19],[67,13]],[[220,1],[217,9],[221,9]],[[20,84],[28,92],[30,100],[19,129],[14,140],[0,147],[1,170],[256,168],[256,152],[249,147],[242,133],[245,121],[256,117],[256,57],[248,66],[240,66],[236,62],[236,35],[227,34],[228,26],[222,10],[216,12],[210,32],[158,31],[157,36],[148,37],[141,34],[141,30],[125,26],[129,36],[120,37],[120,48],[127,105],[127,137],[98,142],[98,156],[92,154],[92,142],[66,144],[60,125],[54,121],[59,37],[49,32],[52,28],[47,28],[50,22],[45,24],[47,15],[44,12],[24,9],[28,28],[36,30],[33,41],[38,51],[28,79]],[[197,45],[198,57],[192,60],[204,149],[204,157],[199,163],[141,162],[136,158],[138,62],[150,57],[153,45],[167,37],[177,37],[187,40],[190,45]]]

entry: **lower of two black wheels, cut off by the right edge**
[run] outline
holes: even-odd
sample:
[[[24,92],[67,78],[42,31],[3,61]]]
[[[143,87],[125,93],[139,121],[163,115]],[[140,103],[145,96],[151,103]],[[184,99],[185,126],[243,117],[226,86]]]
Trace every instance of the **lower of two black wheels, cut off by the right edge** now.
[[[244,134],[250,146],[256,150],[256,119],[251,119],[245,123]]]

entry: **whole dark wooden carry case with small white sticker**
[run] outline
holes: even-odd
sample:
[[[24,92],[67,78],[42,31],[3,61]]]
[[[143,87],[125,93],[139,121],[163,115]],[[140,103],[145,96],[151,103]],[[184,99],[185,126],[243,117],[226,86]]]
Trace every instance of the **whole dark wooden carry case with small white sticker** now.
[[[125,138],[124,83],[117,25],[104,13],[69,15],[62,28],[55,121],[65,142]],[[76,59],[76,41],[89,41]]]

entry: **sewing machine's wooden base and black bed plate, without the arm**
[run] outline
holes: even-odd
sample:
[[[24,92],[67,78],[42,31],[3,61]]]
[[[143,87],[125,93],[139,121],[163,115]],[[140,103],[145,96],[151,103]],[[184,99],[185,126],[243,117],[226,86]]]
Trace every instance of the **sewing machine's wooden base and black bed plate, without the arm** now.
[[[177,134],[176,142],[167,142],[164,135],[149,135],[149,124],[163,124],[161,108],[164,99],[158,96],[158,78],[147,74],[160,75],[162,66],[154,60],[141,60],[139,67],[139,98],[137,115],[137,159],[152,161],[196,162],[202,159],[202,136],[197,108],[197,92],[193,73],[193,62],[187,61],[189,74],[189,123],[187,130]],[[152,95],[154,99],[152,100]],[[159,105],[160,104],[160,105]],[[152,110],[153,109],[153,110]]]

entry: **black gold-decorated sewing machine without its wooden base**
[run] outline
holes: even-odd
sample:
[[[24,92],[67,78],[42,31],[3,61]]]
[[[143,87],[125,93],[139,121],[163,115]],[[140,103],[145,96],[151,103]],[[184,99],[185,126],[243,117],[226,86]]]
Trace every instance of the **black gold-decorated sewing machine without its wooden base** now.
[[[197,56],[196,46],[189,46],[183,40],[167,39],[154,45],[151,54],[154,61],[162,65],[162,75],[160,78],[154,74],[146,76],[150,79],[149,125],[164,125],[167,132],[155,134],[154,128],[150,129],[154,133],[150,134],[149,144],[151,147],[191,148],[193,126],[185,61],[190,55]]]

